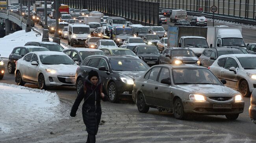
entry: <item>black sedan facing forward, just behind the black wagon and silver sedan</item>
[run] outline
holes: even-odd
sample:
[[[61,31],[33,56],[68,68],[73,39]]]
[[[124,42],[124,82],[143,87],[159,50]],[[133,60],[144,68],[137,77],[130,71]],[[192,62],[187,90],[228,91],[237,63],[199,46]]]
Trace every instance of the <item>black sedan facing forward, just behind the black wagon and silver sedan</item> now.
[[[151,45],[137,45],[133,52],[149,66],[158,65],[160,52],[156,46]]]

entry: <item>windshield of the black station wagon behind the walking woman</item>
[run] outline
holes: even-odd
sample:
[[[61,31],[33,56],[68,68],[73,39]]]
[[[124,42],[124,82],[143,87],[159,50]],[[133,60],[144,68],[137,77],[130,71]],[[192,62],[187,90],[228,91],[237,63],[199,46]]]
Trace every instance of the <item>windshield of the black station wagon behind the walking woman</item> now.
[[[139,59],[109,60],[113,71],[147,71],[148,65]]]

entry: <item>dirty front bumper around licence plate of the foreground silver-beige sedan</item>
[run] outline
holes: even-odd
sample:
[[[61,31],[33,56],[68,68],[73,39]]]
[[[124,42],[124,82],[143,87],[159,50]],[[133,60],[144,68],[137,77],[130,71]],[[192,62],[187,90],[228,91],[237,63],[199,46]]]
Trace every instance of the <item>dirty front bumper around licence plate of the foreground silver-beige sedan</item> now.
[[[243,112],[244,101],[242,102],[198,102],[192,100],[182,100],[184,105],[184,112],[187,113],[197,113],[197,114],[206,114],[206,115],[225,115],[225,114],[239,114]],[[231,108],[213,108],[214,103],[230,103]]]

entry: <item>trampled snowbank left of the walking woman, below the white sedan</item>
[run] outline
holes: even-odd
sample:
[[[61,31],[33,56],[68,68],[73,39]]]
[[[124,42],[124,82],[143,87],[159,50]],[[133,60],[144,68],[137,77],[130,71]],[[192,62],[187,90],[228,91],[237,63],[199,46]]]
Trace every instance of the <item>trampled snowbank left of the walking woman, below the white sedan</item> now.
[[[56,93],[0,83],[0,134],[67,119],[69,112]]]

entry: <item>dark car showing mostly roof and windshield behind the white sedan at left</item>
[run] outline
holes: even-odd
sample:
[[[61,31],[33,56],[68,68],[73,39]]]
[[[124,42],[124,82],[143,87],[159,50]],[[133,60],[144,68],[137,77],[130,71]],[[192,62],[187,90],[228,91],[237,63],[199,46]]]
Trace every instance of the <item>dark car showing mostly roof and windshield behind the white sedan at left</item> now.
[[[25,46],[40,46],[40,47],[46,47],[50,51],[57,51],[62,52],[63,47],[55,42],[28,42],[25,44]]]

